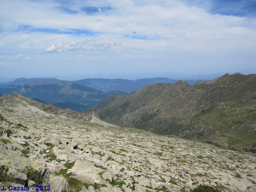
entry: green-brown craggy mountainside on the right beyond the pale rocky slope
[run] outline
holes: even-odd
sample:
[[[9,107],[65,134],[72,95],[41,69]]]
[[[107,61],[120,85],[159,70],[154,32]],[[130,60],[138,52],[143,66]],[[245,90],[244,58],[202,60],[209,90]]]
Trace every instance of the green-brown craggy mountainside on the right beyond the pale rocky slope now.
[[[181,80],[151,84],[131,96],[112,96],[95,109],[107,122],[118,126],[253,152],[255,85],[255,74],[240,73],[194,85]]]

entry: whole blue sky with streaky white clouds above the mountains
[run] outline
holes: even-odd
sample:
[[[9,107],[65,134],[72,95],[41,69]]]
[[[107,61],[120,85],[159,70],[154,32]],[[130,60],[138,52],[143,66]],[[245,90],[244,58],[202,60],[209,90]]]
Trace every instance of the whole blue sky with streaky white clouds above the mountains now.
[[[0,82],[256,73],[256,0],[2,0]]]

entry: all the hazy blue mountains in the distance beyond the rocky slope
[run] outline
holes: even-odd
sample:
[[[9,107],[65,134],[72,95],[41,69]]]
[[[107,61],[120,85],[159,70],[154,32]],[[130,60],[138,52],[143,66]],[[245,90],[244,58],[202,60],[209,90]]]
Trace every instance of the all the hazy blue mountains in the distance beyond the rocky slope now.
[[[42,103],[51,103],[60,108],[72,108],[83,112],[95,107],[108,96],[140,91],[153,83],[175,83],[169,78],[128,79],[81,79],[77,81],[56,78],[18,78],[7,84],[0,84],[0,96],[19,93]],[[194,84],[200,80],[187,80]],[[119,90],[119,91],[118,91]],[[123,91],[124,90],[124,91]],[[104,93],[106,92],[106,93]]]

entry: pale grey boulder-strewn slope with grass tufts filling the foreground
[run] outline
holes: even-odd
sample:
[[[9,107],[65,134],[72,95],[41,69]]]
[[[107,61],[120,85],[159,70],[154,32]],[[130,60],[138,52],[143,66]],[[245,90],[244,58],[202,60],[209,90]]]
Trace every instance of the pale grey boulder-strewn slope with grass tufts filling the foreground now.
[[[0,114],[0,188],[33,188],[31,168],[51,191],[245,191],[256,182],[255,154],[117,127],[94,111],[63,112],[15,94],[0,98]]]

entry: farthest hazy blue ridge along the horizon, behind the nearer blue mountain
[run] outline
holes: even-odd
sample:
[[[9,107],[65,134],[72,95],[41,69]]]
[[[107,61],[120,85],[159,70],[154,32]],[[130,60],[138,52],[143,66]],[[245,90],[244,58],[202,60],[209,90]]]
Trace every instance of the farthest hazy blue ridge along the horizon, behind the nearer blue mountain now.
[[[109,91],[123,91],[123,92],[132,92],[132,91],[140,91],[143,87],[149,84],[155,83],[175,83],[178,80],[169,79],[166,77],[156,77],[156,78],[144,78],[144,79],[137,79],[137,80],[128,80],[128,79],[102,79],[102,78],[88,78],[88,79],[81,79],[77,81],[67,81],[67,80],[60,80],[56,78],[18,78],[12,82],[7,84],[2,84],[0,87],[4,87],[7,85],[17,85],[17,84],[30,84],[32,82],[47,82],[47,83],[55,83],[55,82],[64,82],[69,83],[73,82],[76,84],[80,84],[83,86],[91,87],[103,92]],[[185,80],[189,84],[195,84],[196,82],[203,81],[202,79],[199,80]]]

